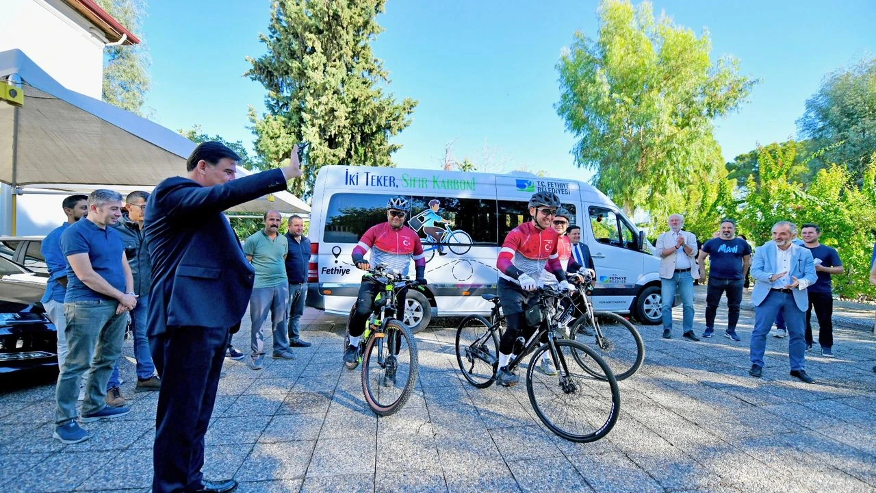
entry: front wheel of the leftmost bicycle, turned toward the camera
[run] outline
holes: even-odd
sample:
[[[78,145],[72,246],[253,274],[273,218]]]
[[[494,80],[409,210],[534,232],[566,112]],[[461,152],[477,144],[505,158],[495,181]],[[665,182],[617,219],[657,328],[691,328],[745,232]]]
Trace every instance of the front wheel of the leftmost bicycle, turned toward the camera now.
[[[371,411],[395,414],[411,397],[417,381],[417,343],[398,320],[388,320],[384,332],[368,339],[362,361],[362,391]]]

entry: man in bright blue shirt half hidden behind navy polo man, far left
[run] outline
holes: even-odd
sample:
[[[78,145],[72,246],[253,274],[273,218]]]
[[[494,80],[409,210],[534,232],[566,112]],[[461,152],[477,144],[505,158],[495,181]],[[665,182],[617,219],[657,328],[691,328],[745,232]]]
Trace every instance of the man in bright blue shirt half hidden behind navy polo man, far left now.
[[[39,252],[46,259],[49,269],[49,280],[46,282],[46,294],[39,300],[46,309],[46,315],[58,332],[58,368],[64,367],[67,358],[67,339],[64,329],[67,318],[64,318],[64,295],[67,293],[67,259],[60,251],[60,235],[76,221],[88,216],[88,196],[71,195],[61,203],[67,222],[53,229],[39,246]]]

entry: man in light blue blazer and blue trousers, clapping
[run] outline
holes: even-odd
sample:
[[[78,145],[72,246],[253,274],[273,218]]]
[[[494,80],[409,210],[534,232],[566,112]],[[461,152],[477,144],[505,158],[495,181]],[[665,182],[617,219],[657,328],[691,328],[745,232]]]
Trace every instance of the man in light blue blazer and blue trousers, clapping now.
[[[788,325],[788,359],[791,362],[791,376],[803,382],[814,380],[806,375],[806,309],[809,296],[806,288],[818,280],[812,254],[803,247],[791,242],[797,226],[788,221],[773,225],[773,240],[767,241],[754,251],[752,278],[757,281],[752,289],[754,304],[754,332],[752,332],[752,369],[748,373],[755,377],[763,375],[764,351],[767,347],[767,333],[776,316],[781,313]]]

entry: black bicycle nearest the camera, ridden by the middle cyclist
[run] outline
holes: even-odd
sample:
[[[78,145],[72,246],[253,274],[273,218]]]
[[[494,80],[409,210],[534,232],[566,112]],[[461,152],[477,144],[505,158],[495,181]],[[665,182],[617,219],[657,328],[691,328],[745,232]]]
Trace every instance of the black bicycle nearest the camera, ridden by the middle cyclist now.
[[[497,300],[494,295],[489,296],[491,301]],[[538,330],[528,341],[517,339],[517,350],[508,362],[508,370],[518,368],[532,354],[526,368],[526,392],[536,416],[563,439],[575,442],[601,439],[618,421],[618,382],[608,363],[593,349],[576,340],[556,337],[556,332],[573,319],[575,308],[569,294],[545,286],[536,289],[535,297],[526,318],[538,320]],[[498,310],[498,301],[494,303]],[[504,318],[490,324],[486,318],[477,317],[464,318],[463,322],[468,322],[461,322],[456,328],[456,362],[470,384],[485,389],[496,381]],[[554,364],[556,375],[548,375],[540,368],[538,363],[545,356]]]

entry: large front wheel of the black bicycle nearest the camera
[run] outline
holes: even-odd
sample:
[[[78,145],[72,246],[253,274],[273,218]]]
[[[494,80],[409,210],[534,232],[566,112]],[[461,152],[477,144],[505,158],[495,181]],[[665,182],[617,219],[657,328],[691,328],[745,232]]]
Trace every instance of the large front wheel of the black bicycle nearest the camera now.
[[[526,370],[526,391],[542,423],[562,439],[591,442],[603,438],[618,421],[620,390],[608,364],[590,347],[569,339],[555,339],[535,350]],[[542,354],[554,362],[557,375],[547,375],[539,364]],[[575,356],[575,354],[578,356]],[[603,377],[591,375],[588,366],[600,368]]]

